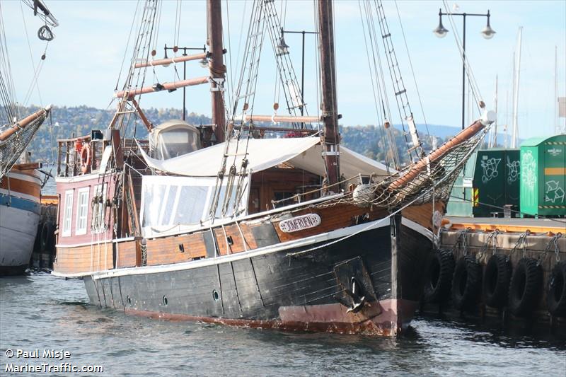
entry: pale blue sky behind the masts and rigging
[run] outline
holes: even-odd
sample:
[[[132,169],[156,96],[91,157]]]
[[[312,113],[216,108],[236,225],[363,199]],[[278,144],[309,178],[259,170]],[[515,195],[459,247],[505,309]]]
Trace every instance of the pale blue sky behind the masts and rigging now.
[[[34,90],[24,105],[88,105],[108,108],[126,52],[137,1],[57,1],[45,0],[60,25],[54,29],[55,39],[49,43],[46,59],[38,79],[40,91]],[[313,1],[277,0],[277,9],[284,18],[285,30],[314,30]],[[432,30],[438,25],[443,1],[384,1],[384,11],[391,30],[393,45],[407,87],[411,108],[417,123],[461,125],[462,61],[448,18],[449,29],[444,38]],[[497,76],[497,114],[500,127],[512,123],[513,54],[517,52],[517,34],[523,27],[521,66],[519,70],[519,137],[549,136],[555,130],[555,82],[558,95],[566,95],[566,1],[448,1],[458,12],[491,14],[495,37],[485,40],[480,31],[485,17],[466,18],[466,54],[487,108],[495,110]],[[223,0],[224,43],[228,80],[236,84],[243,55],[243,45],[252,3],[244,0]],[[16,82],[16,98],[23,103],[30,88],[35,64],[45,50],[45,42],[37,39],[42,25],[33,11],[20,1],[1,0],[6,42],[11,71]],[[163,1],[158,34],[157,57],[163,56],[163,45],[174,45],[177,1]],[[364,45],[359,2],[335,1],[335,45],[337,66],[338,111],[342,124],[376,124],[367,50]],[[283,11],[286,9],[286,11]],[[284,15],[284,17],[283,17]],[[200,47],[206,41],[204,1],[183,1],[180,12],[178,44]],[[454,25],[462,35],[463,18],[454,16]],[[24,22],[25,26],[24,27]],[[401,22],[401,23],[400,23]],[[400,27],[403,26],[403,29]],[[26,37],[26,30],[27,35]],[[406,45],[403,38],[405,35]],[[301,36],[287,34],[291,59],[297,76],[301,75]],[[307,107],[316,111],[317,83],[316,36],[306,35],[305,99]],[[558,68],[555,74],[555,48]],[[31,54],[30,54],[31,51]],[[383,52],[381,52],[383,53]],[[31,56],[30,56],[31,55]],[[170,52],[171,56],[171,52]],[[410,58],[409,58],[410,57]],[[32,63],[33,62],[35,63]],[[266,45],[260,61],[256,89],[255,113],[271,115],[275,101],[275,63],[272,47]],[[411,71],[414,71],[414,77]],[[182,65],[178,69],[182,71]],[[173,66],[159,67],[146,82],[168,82],[175,79]],[[207,71],[197,62],[187,64],[187,78],[204,76]],[[123,79],[123,75],[122,75]],[[416,86],[415,86],[416,81]],[[121,87],[120,83],[119,87]],[[229,90],[231,89],[229,88]],[[420,98],[417,96],[420,93]],[[230,91],[231,93],[232,91]],[[187,88],[187,112],[210,115],[209,88]],[[393,106],[394,99],[390,98]],[[424,111],[421,111],[421,105]],[[113,108],[115,105],[110,105]],[[182,108],[182,91],[144,95],[142,107]],[[395,109],[391,109],[396,112]],[[468,114],[468,122],[478,112]],[[398,123],[393,118],[394,123]],[[560,120],[563,127],[566,120]],[[501,132],[501,128],[499,128]]]

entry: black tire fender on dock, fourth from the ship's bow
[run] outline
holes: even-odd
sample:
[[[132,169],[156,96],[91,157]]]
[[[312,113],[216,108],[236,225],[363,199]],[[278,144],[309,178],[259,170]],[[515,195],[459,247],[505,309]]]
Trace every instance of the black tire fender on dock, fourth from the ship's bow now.
[[[538,306],[543,287],[543,271],[533,258],[521,258],[509,286],[509,311],[517,317],[526,317]]]

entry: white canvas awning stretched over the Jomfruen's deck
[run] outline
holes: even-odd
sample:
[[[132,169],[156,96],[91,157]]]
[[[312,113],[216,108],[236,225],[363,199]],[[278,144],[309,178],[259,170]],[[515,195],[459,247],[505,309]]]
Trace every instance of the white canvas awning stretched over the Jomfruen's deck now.
[[[233,163],[239,169],[247,151],[248,171],[258,172],[286,162],[311,173],[321,176],[325,174],[322,146],[318,137],[250,139],[247,148],[246,143],[243,140],[238,145],[236,141],[231,141],[226,170]],[[141,154],[149,167],[166,173],[189,177],[216,177],[221,168],[224,147],[224,143],[216,144],[168,160],[151,158],[144,151],[141,151]],[[393,173],[394,170],[390,170]],[[387,168],[383,164],[350,151],[344,146],[340,146],[340,172],[345,178],[371,173],[381,177],[388,175]]]

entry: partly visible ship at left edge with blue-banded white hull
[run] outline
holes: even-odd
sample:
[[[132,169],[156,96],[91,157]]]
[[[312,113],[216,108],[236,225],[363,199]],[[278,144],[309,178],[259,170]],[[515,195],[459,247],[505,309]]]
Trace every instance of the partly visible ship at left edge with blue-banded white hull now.
[[[57,20],[41,1],[34,1],[35,13],[45,19],[38,32],[52,40],[48,25],[57,26]],[[0,9],[0,25],[4,20]],[[4,47],[4,46],[3,46]],[[13,101],[8,51],[0,49],[0,97],[6,120],[0,123],[0,275],[21,274],[28,267],[33,252],[37,224],[40,220],[40,195],[43,174],[40,163],[30,162],[25,152],[37,129],[50,115],[46,106],[33,114],[20,116]]]

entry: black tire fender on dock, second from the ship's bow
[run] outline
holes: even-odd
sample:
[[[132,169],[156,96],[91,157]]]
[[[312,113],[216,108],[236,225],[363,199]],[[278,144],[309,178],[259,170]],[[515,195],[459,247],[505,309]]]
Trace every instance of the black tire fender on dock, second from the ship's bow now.
[[[468,255],[456,262],[452,279],[452,303],[457,309],[473,309],[481,293],[482,266]]]

